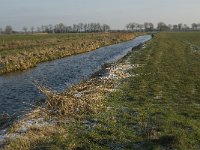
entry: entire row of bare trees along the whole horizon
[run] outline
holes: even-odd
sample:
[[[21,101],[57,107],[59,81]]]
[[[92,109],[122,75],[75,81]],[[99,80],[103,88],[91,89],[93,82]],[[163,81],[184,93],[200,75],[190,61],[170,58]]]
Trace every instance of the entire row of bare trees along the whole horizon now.
[[[166,24],[164,22],[158,22],[157,26],[154,26],[151,22],[145,22],[143,24],[131,22],[126,24],[126,31],[200,31],[200,23],[192,23],[191,26],[187,24]],[[109,32],[110,26],[100,23],[78,23],[71,26],[66,26],[63,23],[56,25],[42,25],[40,27],[23,27],[21,32],[13,30],[12,26],[7,25],[4,29],[0,28],[0,33],[78,33],[78,32]],[[122,30],[118,30],[122,31]],[[123,30],[124,31],[124,30]]]

